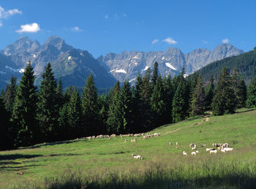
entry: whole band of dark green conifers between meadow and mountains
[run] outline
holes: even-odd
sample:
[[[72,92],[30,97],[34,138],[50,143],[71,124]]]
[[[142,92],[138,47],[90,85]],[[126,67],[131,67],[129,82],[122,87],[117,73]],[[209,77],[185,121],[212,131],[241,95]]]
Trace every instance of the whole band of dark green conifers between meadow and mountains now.
[[[130,85],[116,82],[108,94],[99,95],[94,77],[89,75],[81,93],[78,88],[62,88],[50,63],[42,80],[34,85],[34,72],[29,63],[19,85],[12,77],[0,95],[0,150],[56,142],[98,134],[128,134],[150,131],[189,116],[235,112],[236,108],[256,107],[256,77],[246,88],[237,69],[230,75],[222,69],[216,86],[214,78],[203,83],[196,72],[184,77],[162,77],[158,63],[154,69]]]

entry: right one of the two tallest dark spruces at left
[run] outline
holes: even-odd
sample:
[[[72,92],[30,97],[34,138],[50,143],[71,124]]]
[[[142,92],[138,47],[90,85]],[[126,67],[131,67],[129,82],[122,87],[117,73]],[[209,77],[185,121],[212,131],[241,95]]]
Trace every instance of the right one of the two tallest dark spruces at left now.
[[[38,94],[37,120],[42,132],[42,141],[56,141],[59,131],[59,104],[56,93],[56,79],[53,76],[50,63],[42,74],[40,90]]]

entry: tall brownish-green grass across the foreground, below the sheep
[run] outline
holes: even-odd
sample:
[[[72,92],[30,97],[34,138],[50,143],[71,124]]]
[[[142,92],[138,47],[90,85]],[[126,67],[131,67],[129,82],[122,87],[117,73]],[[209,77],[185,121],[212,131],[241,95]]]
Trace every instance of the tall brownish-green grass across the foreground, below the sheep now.
[[[248,149],[247,149],[248,150]],[[247,151],[246,150],[246,151]],[[133,165],[133,166],[132,166]],[[255,188],[255,152],[180,155],[110,169],[66,169],[16,188]]]

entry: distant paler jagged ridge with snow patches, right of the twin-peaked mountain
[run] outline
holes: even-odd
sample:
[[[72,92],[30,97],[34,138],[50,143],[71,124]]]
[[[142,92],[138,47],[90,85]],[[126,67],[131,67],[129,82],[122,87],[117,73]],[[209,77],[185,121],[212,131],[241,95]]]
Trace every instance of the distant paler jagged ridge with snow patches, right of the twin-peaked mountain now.
[[[143,74],[146,69],[153,68],[154,61],[159,63],[159,73],[162,75],[176,75],[184,66],[187,74],[206,66],[208,63],[244,53],[230,44],[222,44],[211,52],[207,49],[193,50],[184,54],[178,48],[170,47],[165,52],[123,52],[121,54],[108,53],[98,61],[113,74],[116,80],[133,81],[138,73]]]

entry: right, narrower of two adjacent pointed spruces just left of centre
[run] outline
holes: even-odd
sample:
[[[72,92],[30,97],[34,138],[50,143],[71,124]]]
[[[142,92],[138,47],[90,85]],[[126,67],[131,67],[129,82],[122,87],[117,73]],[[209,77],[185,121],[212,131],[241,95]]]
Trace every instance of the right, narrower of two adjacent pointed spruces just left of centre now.
[[[132,112],[132,92],[129,86],[129,81],[124,81],[124,85],[121,88],[121,114],[123,124],[121,127],[121,133],[128,133],[132,131],[133,124],[133,112]]]

